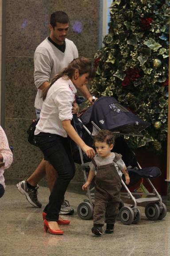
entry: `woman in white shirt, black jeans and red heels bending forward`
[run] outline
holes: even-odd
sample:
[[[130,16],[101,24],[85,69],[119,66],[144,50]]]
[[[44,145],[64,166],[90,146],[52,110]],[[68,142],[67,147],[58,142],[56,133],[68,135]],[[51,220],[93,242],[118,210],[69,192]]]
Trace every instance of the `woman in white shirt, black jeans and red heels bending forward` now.
[[[67,224],[58,220],[58,213],[66,189],[75,173],[70,138],[88,157],[92,158],[95,155],[93,148],[81,140],[71,124],[75,93],[94,76],[95,69],[91,60],[84,57],[77,58],[42,92],[43,104],[35,129],[35,143],[42,150],[44,159],[48,160],[58,172],[58,178],[50,193],[49,204],[43,212],[45,231],[49,229],[54,235],[63,234],[58,224]]]

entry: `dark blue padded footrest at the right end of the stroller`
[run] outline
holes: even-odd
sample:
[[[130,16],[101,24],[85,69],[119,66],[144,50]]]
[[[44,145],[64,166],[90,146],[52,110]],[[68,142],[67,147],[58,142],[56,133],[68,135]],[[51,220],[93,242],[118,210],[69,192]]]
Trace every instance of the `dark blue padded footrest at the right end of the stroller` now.
[[[131,176],[131,172],[138,174],[143,178],[156,178],[161,175],[161,170],[158,167],[145,167],[142,169],[129,169],[129,176]]]

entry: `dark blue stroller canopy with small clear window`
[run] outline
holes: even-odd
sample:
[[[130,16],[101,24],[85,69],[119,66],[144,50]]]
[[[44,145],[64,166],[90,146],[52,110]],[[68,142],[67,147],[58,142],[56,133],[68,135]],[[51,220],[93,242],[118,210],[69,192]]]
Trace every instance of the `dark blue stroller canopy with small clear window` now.
[[[81,121],[84,124],[93,121],[100,129],[137,136],[141,136],[140,132],[150,125],[110,96],[96,100],[93,106],[83,113]]]

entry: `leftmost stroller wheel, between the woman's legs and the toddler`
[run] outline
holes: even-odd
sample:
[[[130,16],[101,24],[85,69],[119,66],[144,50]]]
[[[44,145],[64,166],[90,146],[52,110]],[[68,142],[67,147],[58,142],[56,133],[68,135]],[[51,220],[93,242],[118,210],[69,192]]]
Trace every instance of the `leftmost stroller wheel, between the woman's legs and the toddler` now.
[[[82,220],[89,220],[93,216],[93,205],[84,201],[78,205],[77,213]]]

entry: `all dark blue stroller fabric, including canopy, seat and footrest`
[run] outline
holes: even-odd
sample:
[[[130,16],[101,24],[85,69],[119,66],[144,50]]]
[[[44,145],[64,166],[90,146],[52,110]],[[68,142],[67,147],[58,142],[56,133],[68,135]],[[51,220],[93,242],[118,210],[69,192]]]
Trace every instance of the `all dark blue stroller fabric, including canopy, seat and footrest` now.
[[[150,125],[148,122],[143,121],[141,118],[128,111],[128,109],[124,108],[114,97],[110,96],[103,96],[96,100],[93,106],[90,106],[83,112],[80,119],[90,132],[93,130],[91,121],[97,124],[100,129],[107,129],[112,132],[120,132],[124,134],[131,133],[134,135],[139,135],[143,129]],[[89,136],[83,128],[81,129],[80,136],[86,144],[91,147],[93,146],[92,137]],[[139,169],[135,155],[128,147],[123,136],[116,136],[113,151],[120,153],[123,156],[122,159],[127,167],[132,167],[131,169],[128,169],[130,177],[156,178],[161,175],[161,171],[158,167]],[[79,153],[77,155],[76,152],[74,155],[77,156],[75,162],[81,163]],[[89,159],[84,159],[84,162],[89,162]]]

